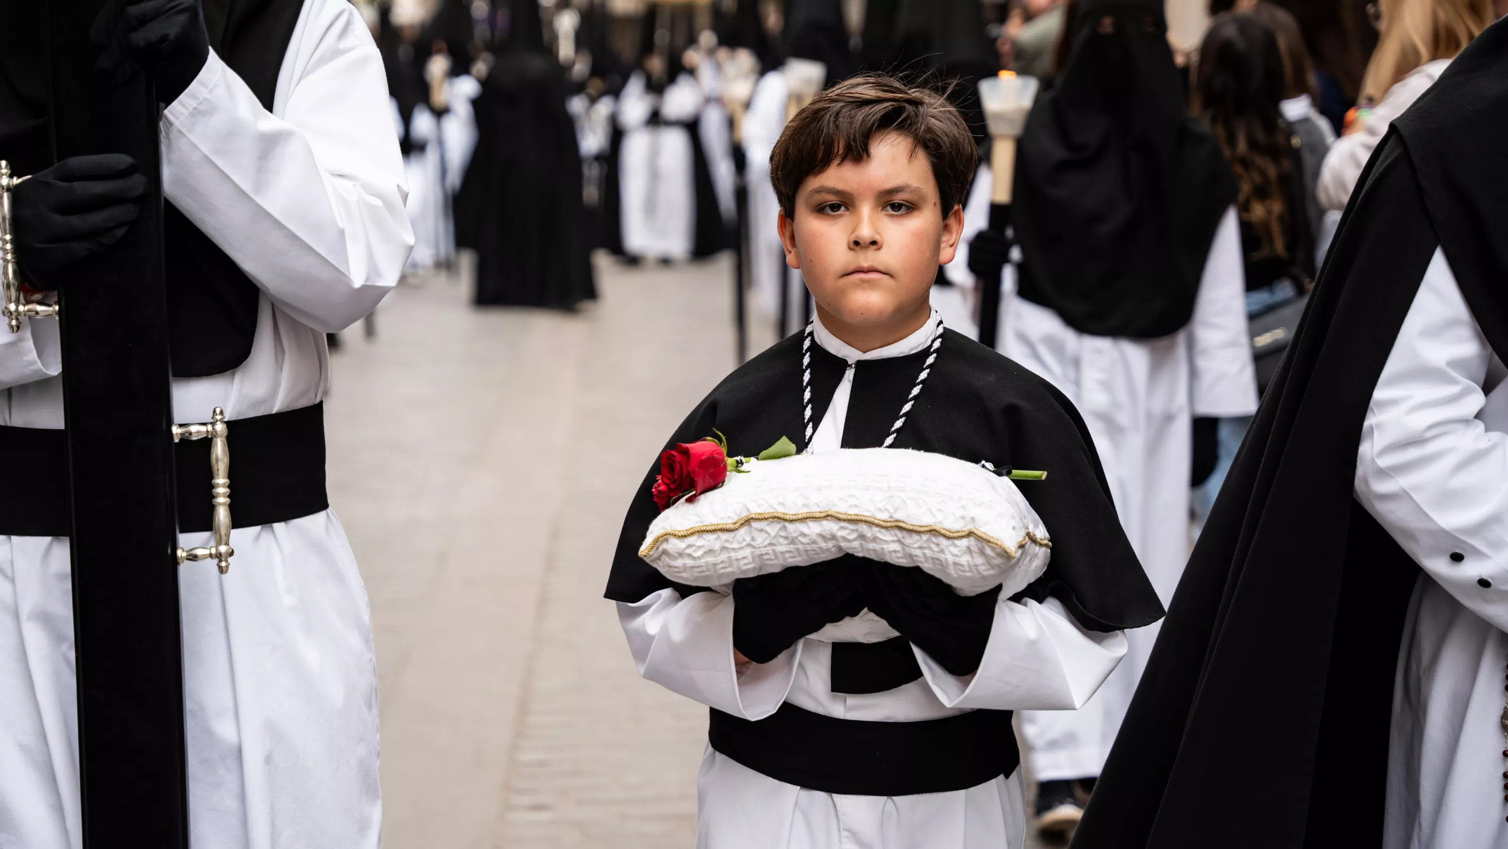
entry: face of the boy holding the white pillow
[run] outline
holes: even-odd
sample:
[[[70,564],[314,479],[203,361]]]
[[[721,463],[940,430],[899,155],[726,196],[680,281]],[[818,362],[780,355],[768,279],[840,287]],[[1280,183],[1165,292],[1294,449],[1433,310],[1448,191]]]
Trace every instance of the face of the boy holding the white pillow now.
[[[804,179],[795,220],[780,216],[786,264],[801,268],[822,324],[860,350],[926,323],[938,264],[962,229],[961,208],[942,214],[926,154],[894,133],[876,136],[867,160]]]

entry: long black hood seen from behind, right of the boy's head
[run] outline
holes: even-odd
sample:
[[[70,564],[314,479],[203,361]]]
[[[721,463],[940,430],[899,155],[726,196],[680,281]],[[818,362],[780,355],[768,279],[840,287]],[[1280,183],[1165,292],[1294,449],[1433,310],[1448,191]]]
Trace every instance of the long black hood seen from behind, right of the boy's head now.
[[[1184,106],[1161,0],[1087,0],[1068,26],[1018,149],[1021,296],[1081,333],[1166,336],[1193,315],[1235,176]]]

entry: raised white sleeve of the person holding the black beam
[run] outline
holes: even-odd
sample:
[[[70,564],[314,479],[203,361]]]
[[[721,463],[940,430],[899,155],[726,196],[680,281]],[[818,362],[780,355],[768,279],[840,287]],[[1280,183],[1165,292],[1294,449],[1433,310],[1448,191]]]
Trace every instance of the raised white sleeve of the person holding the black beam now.
[[[347,3],[306,3],[279,113],[210,54],[163,112],[163,192],[267,296],[317,330],[371,312],[413,229],[382,56]]]

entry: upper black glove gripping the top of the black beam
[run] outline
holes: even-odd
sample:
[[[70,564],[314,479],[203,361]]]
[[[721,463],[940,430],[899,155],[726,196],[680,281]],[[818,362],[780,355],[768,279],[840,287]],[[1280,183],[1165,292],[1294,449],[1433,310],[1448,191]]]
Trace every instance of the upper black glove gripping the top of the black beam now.
[[[106,3],[89,38],[104,47],[100,69],[124,83],[142,68],[157,75],[157,100],[184,93],[210,60],[210,32],[199,0],[128,0]]]

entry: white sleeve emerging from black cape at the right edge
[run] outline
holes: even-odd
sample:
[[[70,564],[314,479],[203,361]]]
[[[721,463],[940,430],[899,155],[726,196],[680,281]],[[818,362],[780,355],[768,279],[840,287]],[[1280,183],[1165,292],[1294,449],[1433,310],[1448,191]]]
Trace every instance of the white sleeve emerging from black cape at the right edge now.
[[[1437,250],[1372,391],[1356,499],[1430,578],[1508,630],[1508,434],[1476,418],[1491,359]]]

